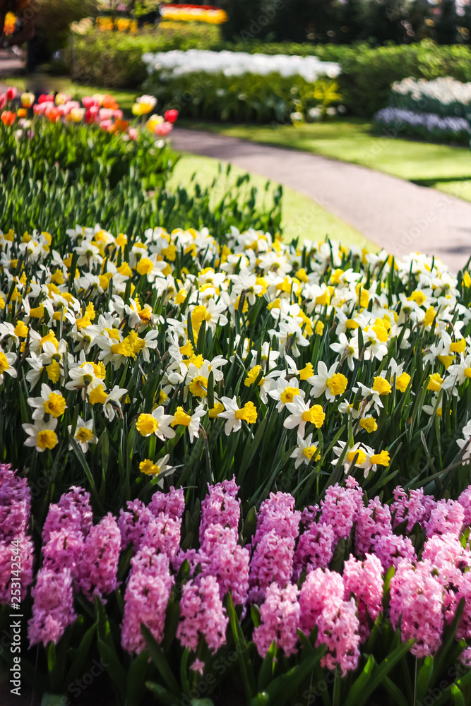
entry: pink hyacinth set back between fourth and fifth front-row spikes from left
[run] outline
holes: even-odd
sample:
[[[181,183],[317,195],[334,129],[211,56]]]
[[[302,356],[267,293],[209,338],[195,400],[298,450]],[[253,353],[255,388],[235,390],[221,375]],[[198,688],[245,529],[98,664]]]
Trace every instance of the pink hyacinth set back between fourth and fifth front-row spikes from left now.
[[[316,627],[319,616],[324,609],[327,597],[342,600],[345,585],[342,576],[328,569],[314,569],[306,577],[299,594],[301,611],[299,627],[306,635]]]

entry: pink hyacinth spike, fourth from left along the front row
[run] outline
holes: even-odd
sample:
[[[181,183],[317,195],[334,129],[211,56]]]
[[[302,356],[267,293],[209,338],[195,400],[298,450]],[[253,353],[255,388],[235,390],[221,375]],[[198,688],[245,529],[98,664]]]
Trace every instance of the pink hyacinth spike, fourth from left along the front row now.
[[[265,602],[260,609],[261,624],[254,630],[254,643],[261,657],[265,657],[273,640],[287,657],[297,652],[298,596],[299,590],[292,583],[280,588],[273,582],[268,587]]]

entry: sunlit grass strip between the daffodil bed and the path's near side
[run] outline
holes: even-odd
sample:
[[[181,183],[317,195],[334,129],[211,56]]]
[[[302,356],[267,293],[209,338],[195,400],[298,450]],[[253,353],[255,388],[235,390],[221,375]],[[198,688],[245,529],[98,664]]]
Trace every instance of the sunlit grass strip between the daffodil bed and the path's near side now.
[[[198,184],[208,186],[218,175],[219,163],[218,160],[214,160],[211,157],[184,154],[177,162],[174,174],[169,180],[169,186],[172,188],[172,186],[183,184],[188,189],[189,180],[195,173]],[[217,181],[213,190],[215,201],[222,197],[225,189],[234,184],[237,177],[245,173],[244,169],[232,165],[229,177],[223,175],[221,181]],[[251,181],[258,188],[258,203],[261,205],[266,193],[266,179],[258,176],[258,174],[251,174]],[[275,186],[278,186],[278,184],[273,184],[271,188],[273,189]],[[283,187],[282,203],[282,228],[285,241],[290,241],[294,237],[300,237],[301,240],[318,241],[328,236],[331,239],[341,241],[346,246],[357,245],[369,250],[378,250],[376,244],[366,240],[354,227],[329,213],[307,196],[288,189],[286,186]]]

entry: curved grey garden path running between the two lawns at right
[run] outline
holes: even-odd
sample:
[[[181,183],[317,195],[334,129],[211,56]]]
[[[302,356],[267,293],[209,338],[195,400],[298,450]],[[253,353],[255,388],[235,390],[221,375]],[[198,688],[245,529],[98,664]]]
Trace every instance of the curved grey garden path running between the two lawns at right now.
[[[232,162],[304,193],[395,256],[428,253],[454,271],[471,256],[471,203],[455,196],[309,152],[184,128],[172,136],[177,150]]]

